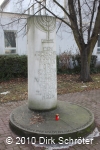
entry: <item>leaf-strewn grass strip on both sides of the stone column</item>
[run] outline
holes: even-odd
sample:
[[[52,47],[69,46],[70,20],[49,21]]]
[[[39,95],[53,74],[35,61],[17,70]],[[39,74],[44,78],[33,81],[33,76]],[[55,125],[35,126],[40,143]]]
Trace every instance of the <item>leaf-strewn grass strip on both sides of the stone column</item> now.
[[[58,75],[57,93],[67,94],[100,88],[100,74],[91,75],[93,82],[78,82],[78,75]],[[9,91],[8,94],[3,92]],[[28,99],[27,79],[14,79],[0,83],[0,102]]]

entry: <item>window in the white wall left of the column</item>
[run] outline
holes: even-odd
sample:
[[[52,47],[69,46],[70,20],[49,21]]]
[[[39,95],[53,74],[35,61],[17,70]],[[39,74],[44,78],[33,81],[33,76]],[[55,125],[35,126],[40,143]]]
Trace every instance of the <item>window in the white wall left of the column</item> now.
[[[16,53],[16,32],[4,31],[5,54]]]

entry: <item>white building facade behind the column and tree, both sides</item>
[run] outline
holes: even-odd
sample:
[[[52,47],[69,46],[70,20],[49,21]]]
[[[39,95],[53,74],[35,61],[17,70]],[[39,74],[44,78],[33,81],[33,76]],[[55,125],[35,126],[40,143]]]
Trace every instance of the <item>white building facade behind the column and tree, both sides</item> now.
[[[60,0],[59,2],[62,1]],[[31,7],[31,3],[27,3],[25,0],[22,3],[18,3],[18,0],[4,0],[2,3],[1,8],[3,9],[3,12],[0,13],[0,39],[2,43],[0,45],[0,54],[27,55],[27,18],[36,11],[36,6]],[[59,12],[60,10],[58,10],[58,13]],[[45,10],[42,10],[41,14],[38,12],[36,15],[43,15],[44,13],[47,14]],[[60,14],[62,16],[64,15],[63,12]],[[8,41],[9,37],[10,41]],[[13,37],[13,41],[11,40],[11,37]],[[78,47],[73,34],[65,24],[60,24],[59,20],[57,20],[56,53],[59,54],[69,51],[72,54],[78,52]],[[98,56],[97,61],[100,63],[100,38],[95,45],[93,55]]]

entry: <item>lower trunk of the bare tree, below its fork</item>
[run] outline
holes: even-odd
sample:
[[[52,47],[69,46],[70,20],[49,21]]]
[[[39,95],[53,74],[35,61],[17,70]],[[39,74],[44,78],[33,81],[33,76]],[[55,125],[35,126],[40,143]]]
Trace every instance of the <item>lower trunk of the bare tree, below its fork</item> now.
[[[81,52],[81,74],[80,80],[83,82],[92,81],[90,76],[90,62],[91,62],[91,54],[87,53],[87,48]]]

